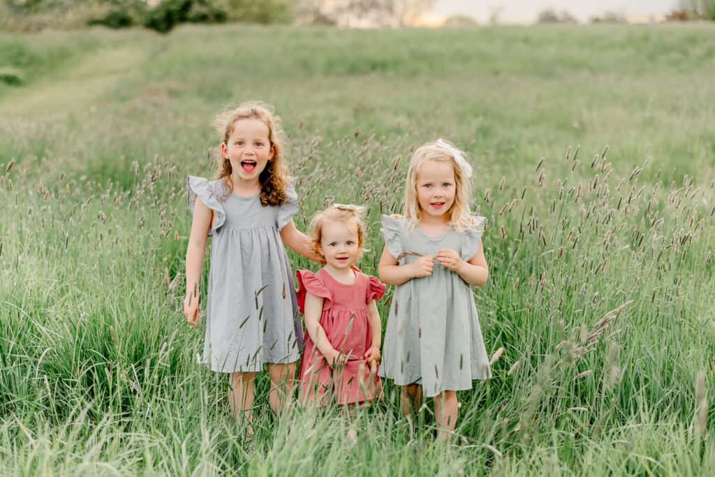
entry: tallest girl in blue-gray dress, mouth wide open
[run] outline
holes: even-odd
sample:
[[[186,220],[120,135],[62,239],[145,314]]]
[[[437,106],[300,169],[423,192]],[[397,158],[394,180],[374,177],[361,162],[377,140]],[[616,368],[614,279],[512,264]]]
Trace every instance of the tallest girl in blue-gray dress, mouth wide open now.
[[[267,105],[250,102],[221,114],[214,125],[223,139],[217,179],[188,180],[194,219],[184,315],[199,324],[199,276],[212,236],[203,362],[229,374],[231,408],[250,423],[255,373],[266,364],[270,405],[277,411],[291,395],[300,359],[302,328],[283,244],[320,257],[292,220],[297,195],[282,162],[280,118]]]

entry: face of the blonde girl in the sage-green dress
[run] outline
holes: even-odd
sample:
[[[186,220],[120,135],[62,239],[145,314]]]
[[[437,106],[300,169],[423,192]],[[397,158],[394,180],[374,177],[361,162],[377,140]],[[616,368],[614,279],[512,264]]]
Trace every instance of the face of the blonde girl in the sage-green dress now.
[[[417,199],[422,220],[449,220],[457,192],[454,167],[450,162],[425,161],[417,174]]]

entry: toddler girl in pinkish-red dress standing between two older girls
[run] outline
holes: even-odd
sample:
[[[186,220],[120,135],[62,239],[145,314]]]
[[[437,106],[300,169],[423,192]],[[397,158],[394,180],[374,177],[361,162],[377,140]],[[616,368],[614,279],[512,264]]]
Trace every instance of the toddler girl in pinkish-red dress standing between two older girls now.
[[[355,268],[363,247],[363,207],[334,205],[311,223],[312,245],[325,257],[317,273],[297,270],[305,320],[300,399],[357,405],[380,396],[380,315],[385,285]]]

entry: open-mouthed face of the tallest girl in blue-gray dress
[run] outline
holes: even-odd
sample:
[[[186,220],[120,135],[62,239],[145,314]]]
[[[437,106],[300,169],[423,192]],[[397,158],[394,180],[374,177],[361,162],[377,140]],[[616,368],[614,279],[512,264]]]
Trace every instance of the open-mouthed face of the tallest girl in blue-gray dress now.
[[[257,185],[258,177],[273,158],[267,124],[256,118],[239,119],[233,123],[227,142],[221,144],[221,154],[231,162],[231,179],[235,184]]]

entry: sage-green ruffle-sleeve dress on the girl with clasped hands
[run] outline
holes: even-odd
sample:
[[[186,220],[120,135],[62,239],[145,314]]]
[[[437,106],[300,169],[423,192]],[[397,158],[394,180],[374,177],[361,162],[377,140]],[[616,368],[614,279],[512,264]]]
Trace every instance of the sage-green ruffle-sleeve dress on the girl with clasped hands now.
[[[463,232],[448,227],[432,237],[418,227],[405,232],[403,220],[383,215],[380,232],[395,258],[403,252],[435,257],[438,250],[451,248],[470,260],[479,250],[483,230],[484,217],[475,217],[474,225]],[[418,258],[403,255],[398,264]],[[491,377],[472,287],[457,272],[435,260],[432,275],[395,287],[378,375],[397,385],[421,384],[428,397],[470,389],[473,380]]]

